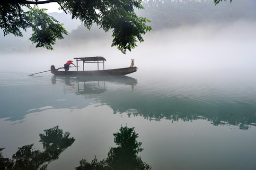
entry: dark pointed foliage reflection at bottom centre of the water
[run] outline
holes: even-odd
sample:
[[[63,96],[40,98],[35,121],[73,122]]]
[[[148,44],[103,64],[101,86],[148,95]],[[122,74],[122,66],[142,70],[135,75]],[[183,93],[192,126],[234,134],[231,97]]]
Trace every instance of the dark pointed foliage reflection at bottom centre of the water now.
[[[141,161],[138,153],[143,149],[141,142],[137,142],[138,134],[134,127],[121,127],[120,132],[114,134],[117,147],[110,148],[106,160],[97,161],[95,158],[91,163],[86,160],[80,161],[76,170],[150,170],[151,167]]]

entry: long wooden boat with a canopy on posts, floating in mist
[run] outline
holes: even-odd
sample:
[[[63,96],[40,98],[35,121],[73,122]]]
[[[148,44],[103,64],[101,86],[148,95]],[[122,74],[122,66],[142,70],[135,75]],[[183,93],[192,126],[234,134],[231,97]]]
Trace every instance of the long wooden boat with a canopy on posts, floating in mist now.
[[[59,71],[55,68],[54,65],[51,66],[51,73],[58,76],[121,76],[127,75],[137,71],[137,67],[129,67],[129,68],[116,68],[116,69],[105,69],[105,61],[104,57],[82,57],[82,58],[74,58],[77,61],[77,70],[76,71]],[[83,62],[83,71],[78,71],[78,61]],[[97,63],[98,70],[93,71],[84,71],[85,63]],[[103,70],[99,70],[99,63],[103,63]]]

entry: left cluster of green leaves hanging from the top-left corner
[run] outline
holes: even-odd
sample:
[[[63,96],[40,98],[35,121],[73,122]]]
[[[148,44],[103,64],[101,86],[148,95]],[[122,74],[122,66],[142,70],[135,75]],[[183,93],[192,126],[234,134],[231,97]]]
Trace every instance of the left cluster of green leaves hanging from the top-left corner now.
[[[23,36],[22,30],[32,28],[32,36],[29,40],[36,43],[36,47],[44,47],[53,50],[52,45],[56,39],[63,39],[63,34],[67,34],[56,19],[48,16],[46,9],[32,8],[26,4],[11,4],[0,2],[0,27],[4,35],[13,34]],[[25,12],[22,8],[28,8]]]

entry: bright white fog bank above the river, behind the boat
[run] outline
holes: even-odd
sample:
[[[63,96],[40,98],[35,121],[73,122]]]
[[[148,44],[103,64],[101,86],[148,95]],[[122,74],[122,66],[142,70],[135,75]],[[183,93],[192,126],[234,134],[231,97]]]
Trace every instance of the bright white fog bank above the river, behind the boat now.
[[[36,73],[49,70],[52,64],[63,67],[67,60],[75,57],[103,56],[107,59],[105,69],[129,67],[131,59],[135,59],[138,71],[231,75],[235,72],[253,77],[256,74],[255,29],[256,23],[238,21],[151,31],[144,35],[144,42],[126,55],[110,47],[111,37],[71,46],[55,45],[53,51],[37,48],[32,52],[0,53],[4,63],[0,71]],[[89,66],[89,69],[96,68]]]

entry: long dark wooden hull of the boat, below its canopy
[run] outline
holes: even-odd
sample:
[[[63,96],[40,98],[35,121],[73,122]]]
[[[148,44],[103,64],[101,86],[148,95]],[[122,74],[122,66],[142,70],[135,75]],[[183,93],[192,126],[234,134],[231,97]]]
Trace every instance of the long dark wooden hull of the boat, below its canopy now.
[[[51,73],[58,76],[121,76],[137,71],[137,67],[116,68],[95,71],[58,71],[54,65],[51,66]]]

